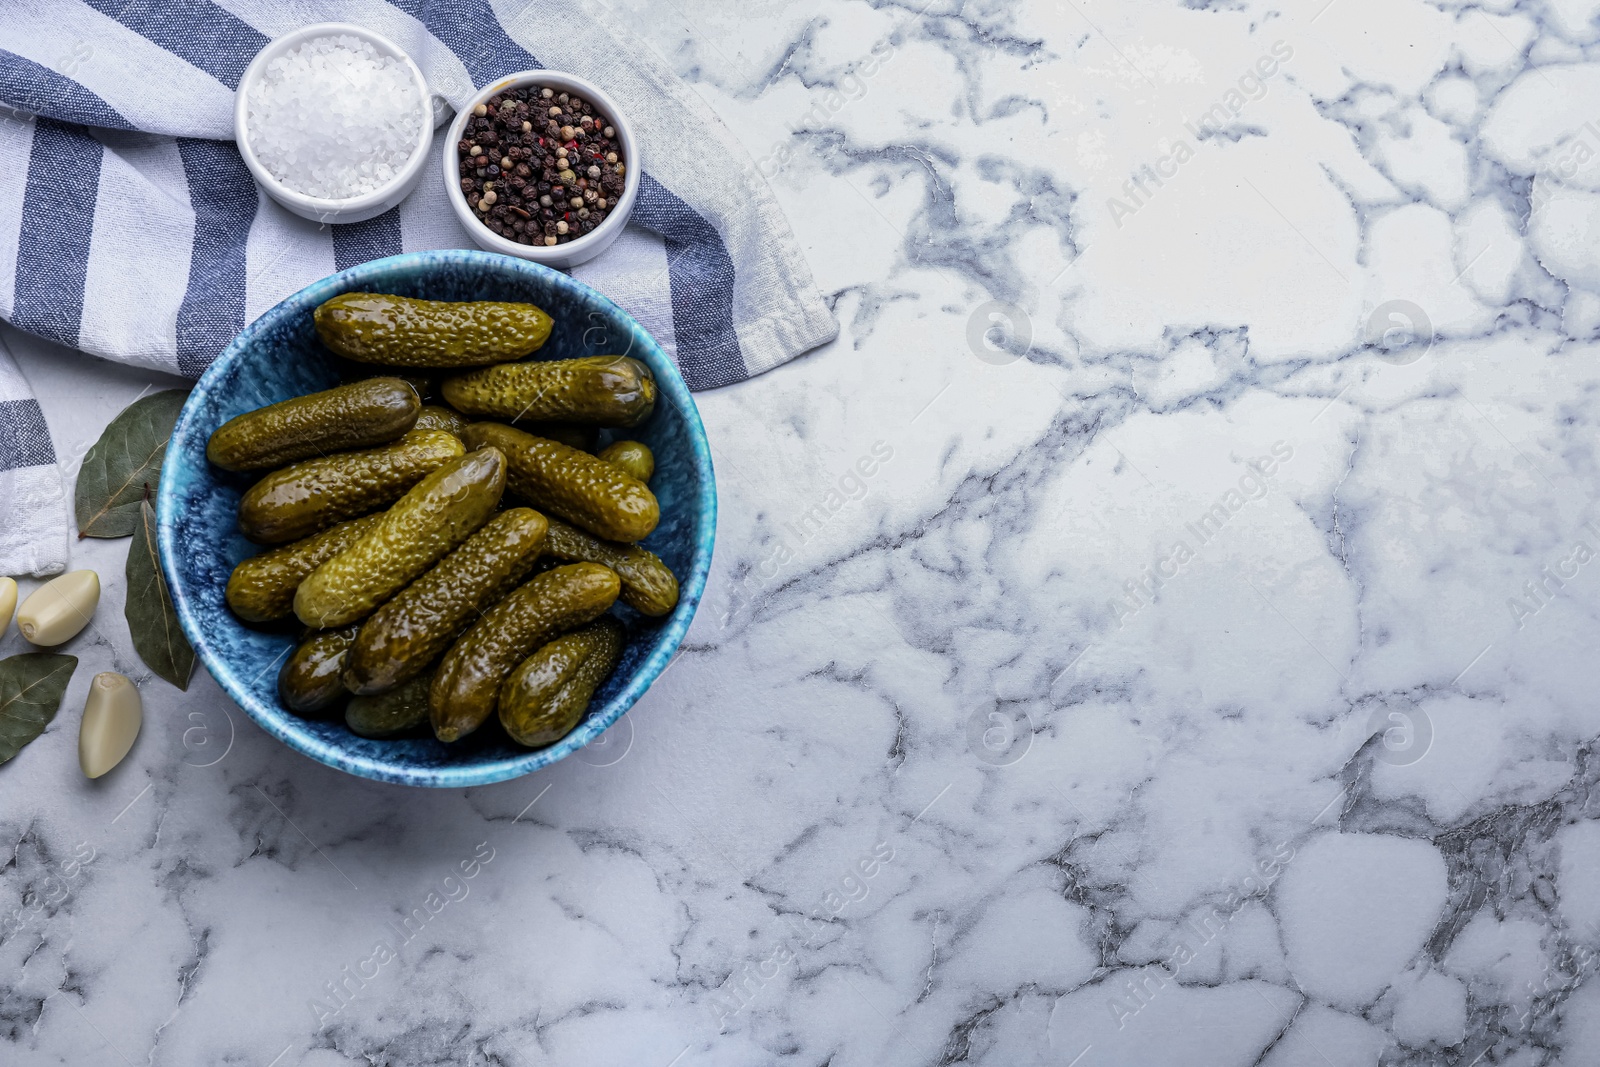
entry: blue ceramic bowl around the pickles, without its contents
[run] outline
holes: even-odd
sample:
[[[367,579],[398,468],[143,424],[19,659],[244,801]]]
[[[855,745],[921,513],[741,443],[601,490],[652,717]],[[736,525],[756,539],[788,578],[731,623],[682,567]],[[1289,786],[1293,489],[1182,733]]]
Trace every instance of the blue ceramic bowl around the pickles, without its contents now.
[[[621,603],[627,648],[611,678],[595,693],[587,717],[547,749],[522,749],[498,729],[482,729],[453,745],[427,741],[368,741],[342,721],[310,721],[278,702],[278,667],[294,648],[288,629],[250,627],[222,600],[227,577],[258,547],[235,523],[248,475],[206,462],[211,432],[262,405],[338,384],[338,373],[312,328],[312,310],[339,293],[370,291],[442,301],[528,301],[555,318],[541,358],[627,354],[656,374],[659,398],[650,421],[627,437],[656,453],[651,490],[661,525],[645,547],[678,576],[680,600],[666,619],[646,619]],[[710,569],[717,530],[717,488],[710,450],[694,400],[672,360],[622,309],[565,274],[480,251],[424,251],[352,267],[301,290],[234,338],[184,405],[162,469],[162,569],[184,633],[211,677],[245,712],[291,749],[350,774],[405,785],[483,785],[555,763],[584,747],[637,701],[694,617]]]

